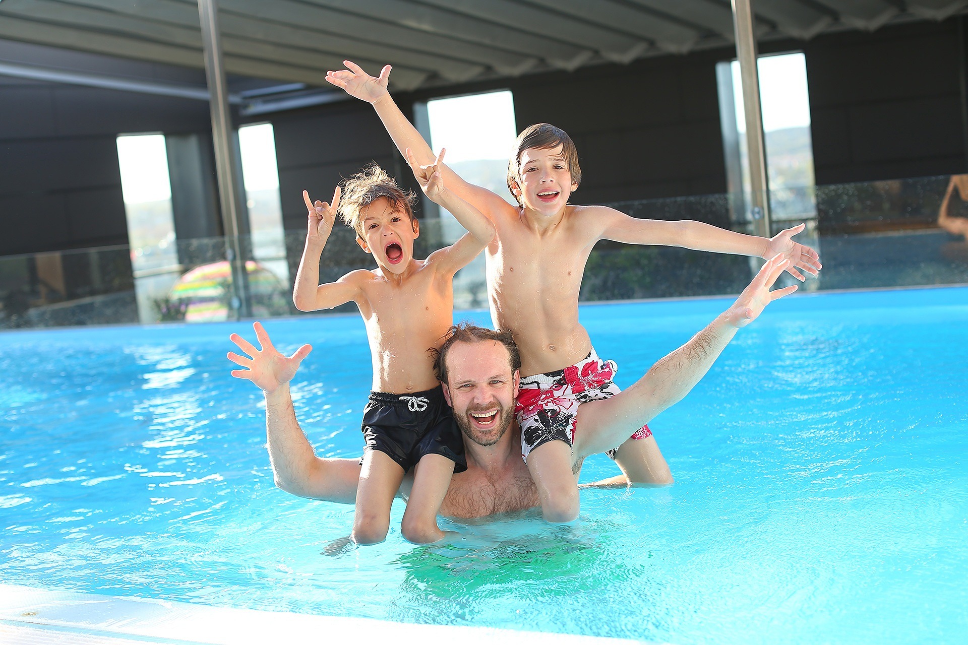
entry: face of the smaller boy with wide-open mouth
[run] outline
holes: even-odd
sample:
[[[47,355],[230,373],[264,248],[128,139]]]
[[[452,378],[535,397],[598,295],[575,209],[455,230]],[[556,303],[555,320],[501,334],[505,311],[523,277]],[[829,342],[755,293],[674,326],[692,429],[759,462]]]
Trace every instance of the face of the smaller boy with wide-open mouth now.
[[[419,235],[416,220],[394,210],[386,197],[380,197],[363,209],[363,239],[356,238],[361,249],[373,253],[384,272],[402,274],[413,258],[413,240]]]

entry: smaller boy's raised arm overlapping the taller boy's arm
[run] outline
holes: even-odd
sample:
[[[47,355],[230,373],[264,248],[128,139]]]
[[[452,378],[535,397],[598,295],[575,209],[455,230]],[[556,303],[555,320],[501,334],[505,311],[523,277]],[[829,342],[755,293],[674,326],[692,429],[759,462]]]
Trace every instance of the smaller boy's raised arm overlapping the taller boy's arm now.
[[[435,203],[447,209],[462,226],[468,229],[467,235],[461,236],[461,239],[449,247],[431,253],[430,257],[427,258],[445,274],[453,276],[467,266],[469,261],[474,259],[486,246],[491,244],[496,229],[493,221],[488,220],[460,195],[448,190],[443,185],[440,172],[443,166],[441,162],[443,155],[444,150],[441,148],[440,154],[433,163],[420,165],[413,158],[413,151],[407,149],[407,162],[410,169],[413,170],[413,176],[417,183],[420,184],[420,190],[424,191],[424,194],[434,200]]]

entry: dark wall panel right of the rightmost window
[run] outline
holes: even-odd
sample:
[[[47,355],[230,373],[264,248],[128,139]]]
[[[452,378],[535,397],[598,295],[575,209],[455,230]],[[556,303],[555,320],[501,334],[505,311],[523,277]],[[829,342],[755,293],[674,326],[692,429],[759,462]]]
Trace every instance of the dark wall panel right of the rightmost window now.
[[[961,17],[803,46],[818,184],[964,172]]]

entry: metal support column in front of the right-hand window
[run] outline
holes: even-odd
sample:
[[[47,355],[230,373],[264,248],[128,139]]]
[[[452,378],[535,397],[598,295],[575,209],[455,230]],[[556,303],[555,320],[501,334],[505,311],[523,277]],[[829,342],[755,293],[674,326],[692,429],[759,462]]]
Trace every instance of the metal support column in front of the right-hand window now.
[[[749,151],[749,179],[752,191],[750,218],[753,232],[771,237],[770,184],[767,180],[767,153],[760,106],[760,76],[757,71],[756,37],[753,34],[752,0],[732,0],[736,53],[740,59],[742,105],[746,123],[746,150]]]

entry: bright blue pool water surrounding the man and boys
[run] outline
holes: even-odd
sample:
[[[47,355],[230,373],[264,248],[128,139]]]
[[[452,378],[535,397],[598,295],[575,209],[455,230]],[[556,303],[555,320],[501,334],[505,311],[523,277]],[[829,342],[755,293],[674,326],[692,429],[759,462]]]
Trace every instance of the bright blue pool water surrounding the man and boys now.
[[[627,386],[726,300],[582,308]],[[482,312],[470,318],[486,321]],[[315,351],[296,411],[356,455],[355,316],[270,321]],[[955,642],[968,629],[968,289],[790,298],[652,424],[677,483],[585,490],[582,516],[399,534],[322,555],[352,509],[276,489],[247,324],[0,335],[0,580],[408,622],[674,643]],[[583,479],[617,474],[604,457]],[[446,522],[445,522],[446,523]],[[963,641],[961,641],[963,642]]]

